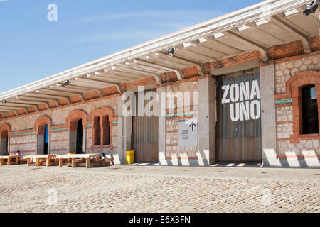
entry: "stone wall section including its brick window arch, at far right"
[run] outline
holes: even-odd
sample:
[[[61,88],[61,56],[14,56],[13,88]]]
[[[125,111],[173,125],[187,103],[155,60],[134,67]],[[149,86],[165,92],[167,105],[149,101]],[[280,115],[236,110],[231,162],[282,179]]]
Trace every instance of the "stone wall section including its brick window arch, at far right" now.
[[[279,60],[275,64],[277,165],[279,166],[320,166],[319,134],[301,135],[301,132],[297,131],[302,115],[297,114],[298,94],[294,93],[304,83],[309,83],[304,82],[306,79],[317,84],[319,73],[318,76],[315,75],[319,70],[319,55],[316,53],[304,57],[290,57],[287,60]],[[309,79],[309,75],[316,79]]]

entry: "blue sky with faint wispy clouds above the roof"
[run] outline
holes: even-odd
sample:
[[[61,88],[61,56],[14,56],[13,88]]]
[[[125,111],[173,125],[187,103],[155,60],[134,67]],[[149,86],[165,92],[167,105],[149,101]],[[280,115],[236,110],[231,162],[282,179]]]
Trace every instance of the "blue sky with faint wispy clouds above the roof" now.
[[[260,1],[0,0],[0,93]]]

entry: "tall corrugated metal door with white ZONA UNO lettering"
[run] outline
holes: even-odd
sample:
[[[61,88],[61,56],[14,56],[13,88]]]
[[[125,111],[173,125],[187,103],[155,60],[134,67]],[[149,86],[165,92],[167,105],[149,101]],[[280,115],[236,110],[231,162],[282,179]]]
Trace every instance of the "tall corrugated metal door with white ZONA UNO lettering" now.
[[[261,162],[260,69],[217,77],[218,162]]]

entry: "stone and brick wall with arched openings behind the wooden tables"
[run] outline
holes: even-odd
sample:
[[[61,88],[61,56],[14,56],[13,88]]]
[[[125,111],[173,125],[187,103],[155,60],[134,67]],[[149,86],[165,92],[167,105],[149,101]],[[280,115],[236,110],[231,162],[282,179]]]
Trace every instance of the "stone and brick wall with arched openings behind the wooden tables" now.
[[[90,113],[95,109],[110,107],[113,110],[113,117],[118,116],[117,96],[109,96],[94,101],[84,101],[78,104],[70,104],[53,109],[37,111],[32,114],[22,116],[14,116],[0,120],[0,126],[8,123],[11,126],[10,132],[10,152],[15,154],[16,150],[20,150],[23,155],[34,155],[36,153],[36,129],[35,123],[41,116],[47,116],[51,119],[50,132],[50,153],[65,154],[68,153],[68,128],[66,128],[66,117],[72,111],[80,109],[87,114],[87,122],[90,123]],[[58,130],[52,130],[55,128]],[[92,130],[87,129],[87,150],[97,152],[101,150],[90,150],[92,147]],[[117,124],[112,125],[112,146],[103,149],[105,153],[112,156],[117,153]]]

